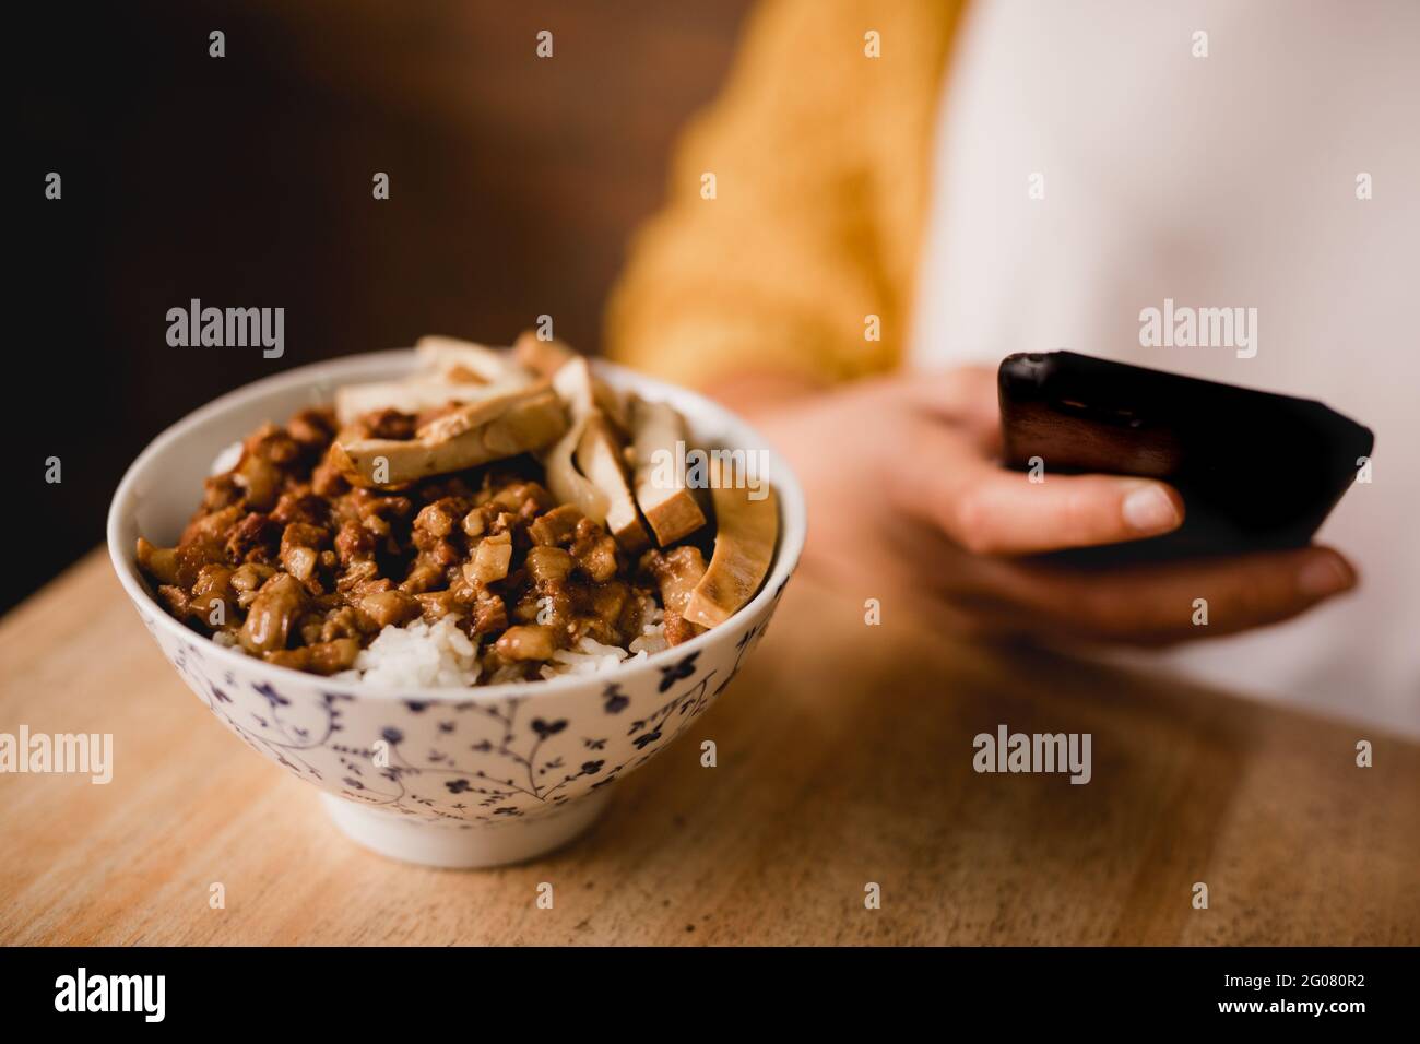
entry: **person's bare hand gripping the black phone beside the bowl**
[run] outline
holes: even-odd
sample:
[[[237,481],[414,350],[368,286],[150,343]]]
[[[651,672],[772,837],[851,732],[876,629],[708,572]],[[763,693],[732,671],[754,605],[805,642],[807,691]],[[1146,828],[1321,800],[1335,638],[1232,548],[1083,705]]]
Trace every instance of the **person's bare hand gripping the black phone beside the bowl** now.
[[[1322,547],[1088,574],[1020,560],[1167,533],[1184,504],[1146,479],[1030,483],[1003,469],[990,369],[822,392],[747,378],[717,391],[802,482],[805,565],[863,598],[924,595],[922,609],[958,632],[1167,645],[1275,624],[1356,584],[1346,560]],[[1208,626],[1193,624],[1197,598]]]

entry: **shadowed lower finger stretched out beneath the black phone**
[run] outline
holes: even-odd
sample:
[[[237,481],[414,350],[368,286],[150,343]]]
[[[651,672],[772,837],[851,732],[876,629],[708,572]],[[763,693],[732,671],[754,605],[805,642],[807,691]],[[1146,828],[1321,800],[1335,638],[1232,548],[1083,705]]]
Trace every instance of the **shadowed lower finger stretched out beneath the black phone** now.
[[[1136,645],[1277,624],[1356,585],[1336,551],[1309,547],[1113,572],[993,562],[997,599],[1075,638]]]

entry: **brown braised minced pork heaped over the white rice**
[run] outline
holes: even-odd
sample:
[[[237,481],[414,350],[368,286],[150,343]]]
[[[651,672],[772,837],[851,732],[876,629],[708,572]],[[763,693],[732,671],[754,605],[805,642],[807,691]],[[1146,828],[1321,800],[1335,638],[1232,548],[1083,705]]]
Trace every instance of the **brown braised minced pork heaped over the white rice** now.
[[[430,416],[386,409],[358,428],[408,439]],[[604,527],[554,501],[531,457],[366,489],[332,462],[335,435],[328,409],[264,425],[236,467],[206,480],[176,547],[138,541],[173,616],[267,662],[331,675],[385,626],[454,614],[480,642],[483,678],[510,668],[537,678],[582,638],[628,646],[660,592],[683,597],[704,570],[694,548],[632,561]],[[672,643],[699,629],[676,622]]]

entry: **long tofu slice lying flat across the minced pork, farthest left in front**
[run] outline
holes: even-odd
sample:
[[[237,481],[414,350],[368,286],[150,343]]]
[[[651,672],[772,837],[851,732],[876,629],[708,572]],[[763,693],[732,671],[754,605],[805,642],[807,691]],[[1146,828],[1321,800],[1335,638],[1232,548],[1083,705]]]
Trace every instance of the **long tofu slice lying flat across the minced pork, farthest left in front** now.
[[[338,439],[331,459],[355,484],[400,486],[542,449],[567,426],[561,399],[541,384],[469,403],[413,439]]]

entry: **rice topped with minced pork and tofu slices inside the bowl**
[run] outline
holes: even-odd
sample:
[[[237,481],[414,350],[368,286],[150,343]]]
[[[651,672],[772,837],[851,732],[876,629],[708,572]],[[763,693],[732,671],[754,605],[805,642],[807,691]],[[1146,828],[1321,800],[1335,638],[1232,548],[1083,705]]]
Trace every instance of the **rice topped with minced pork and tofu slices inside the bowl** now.
[[[169,615],[332,680],[460,687],[615,670],[758,591],[774,499],[652,482],[669,406],[527,335],[417,351],[223,453],[175,547],[138,540]]]

